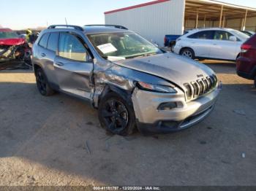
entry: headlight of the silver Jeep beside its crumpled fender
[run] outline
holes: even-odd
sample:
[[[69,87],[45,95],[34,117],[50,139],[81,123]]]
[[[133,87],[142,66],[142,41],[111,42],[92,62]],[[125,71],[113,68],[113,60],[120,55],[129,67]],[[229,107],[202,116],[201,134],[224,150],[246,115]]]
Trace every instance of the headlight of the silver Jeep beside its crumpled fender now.
[[[166,85],[151,85],[146,82],[138,82],[138,87],[141,90],[148,90],[159,93],[177,93],[173,87]]]

